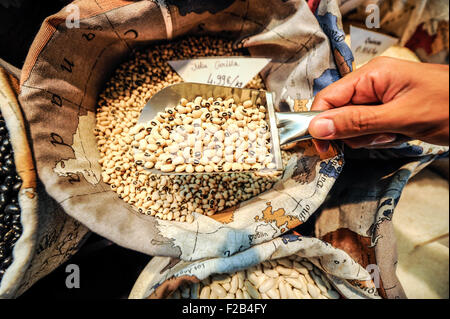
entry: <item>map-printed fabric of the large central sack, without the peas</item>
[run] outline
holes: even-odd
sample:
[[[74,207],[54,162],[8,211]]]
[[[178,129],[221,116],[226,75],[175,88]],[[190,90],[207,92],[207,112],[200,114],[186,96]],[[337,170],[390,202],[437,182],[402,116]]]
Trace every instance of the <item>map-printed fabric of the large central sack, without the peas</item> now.
[[[320,158],[310,142],[301,144],[272,190],[212,218],[195,215],[194,222],[187,224],[143,216],[120,200],[100,178],[92,132],[97,95],[118,63],[139,46],[187,34],[226,34],[251,55],[272,58],[261,75],[277,102],[312,97],[352,70],[353,57],[344,43],[336,2],[80,0],[73,4],[79,27],[68,27],[73,25],[67,24],[73,10],[63,9],[46,19],[26,58],[20,94],[38,176],[69,216],[124,247],[197,261],[269,247],[318,210],[343,169],[339,147]],[[400,149],[401,156],[406,155],[405,148],[410,146]],[[378,207],[364,214],[374,221]],[[328,247],[319,242],[308,248],[311,255],[321,256]],[[386,249],[394,253],[393,247]],[[330,260],[339,261],[344,254],[332,252]],[[364,249],[359,252],[365,255]]]

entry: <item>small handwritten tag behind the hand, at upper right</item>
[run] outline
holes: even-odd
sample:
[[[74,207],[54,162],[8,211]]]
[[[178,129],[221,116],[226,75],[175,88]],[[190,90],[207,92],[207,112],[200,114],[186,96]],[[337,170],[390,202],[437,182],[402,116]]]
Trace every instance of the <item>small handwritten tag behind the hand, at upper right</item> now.
[[[381,55],[398,39],[381,33],[350,26],[350,41],[355,63],[360,66]]]

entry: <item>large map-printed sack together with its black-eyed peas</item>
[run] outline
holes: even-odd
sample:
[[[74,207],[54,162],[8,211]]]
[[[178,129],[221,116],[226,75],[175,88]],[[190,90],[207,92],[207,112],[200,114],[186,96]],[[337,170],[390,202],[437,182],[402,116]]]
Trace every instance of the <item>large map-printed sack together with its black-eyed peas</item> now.
[[[147,125],[136,124],[151,97],[182,81],[168,62],[199,57],[269,58],[248,87],[274,92],[283,110],[308,108],[293,101],[312,98],[352,70],[344,38],[335,1],[76,1],[44,21],[21,75],[19,99],[38,175],[69,216],[149,255],[239,260],[231,258],[255,245],[269,249],[330,195],[344,167],[339,145],[319,156],[303,142],[283,153],[283,172],[262,175],[243,172],[272,163],[270,154],[250,149],[267,144],[248,130],[267,133],[266,107],[258,101],[185,98]],[[225,126],[245,141],[237,145],[234,133],[222,134]],[[184,145],[178,127],[200,132],[198,148],[211,156],[197,158],[195,141]],[[240,148],[238,157],[230,156],[226,138]],[[424,162],[436,152],[428,149]],[[203,174],[165,176],[152,168]],[[209,174],[217,171],[223,173]],[[360,193],[358,200],[381,196]],[[370,206],[364,221],[377,211]],[[377,256],[394,264],[394,251],[392,241]],[[342,253],[333,250],[333,258]],[[392,296],[402,295],[398,287]]]

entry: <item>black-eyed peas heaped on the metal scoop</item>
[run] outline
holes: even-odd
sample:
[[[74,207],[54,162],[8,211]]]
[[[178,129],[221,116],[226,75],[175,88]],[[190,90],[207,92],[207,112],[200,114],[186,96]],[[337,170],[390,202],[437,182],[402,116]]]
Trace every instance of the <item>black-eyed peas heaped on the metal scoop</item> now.
[[[274,169],[266,107],[261,101],[198,96],[166,107],[130,130],[136,163],[162,172]]]

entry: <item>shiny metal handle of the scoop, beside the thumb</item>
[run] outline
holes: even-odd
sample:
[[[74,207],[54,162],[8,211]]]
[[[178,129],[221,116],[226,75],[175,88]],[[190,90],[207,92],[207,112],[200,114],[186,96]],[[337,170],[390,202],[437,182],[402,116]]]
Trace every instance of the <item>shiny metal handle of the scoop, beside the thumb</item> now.
[[[309,112],[275,112],[280,146],[312,139],[308,132],[309,123],[320,111]]]

